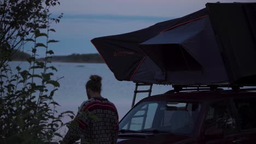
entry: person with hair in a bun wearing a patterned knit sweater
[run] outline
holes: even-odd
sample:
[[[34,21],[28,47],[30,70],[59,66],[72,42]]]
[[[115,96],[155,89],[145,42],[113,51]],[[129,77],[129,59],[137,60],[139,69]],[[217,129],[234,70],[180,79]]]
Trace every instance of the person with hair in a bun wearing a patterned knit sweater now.
[[[61,143],[117,143],[118,112],[115,105],[101,95],[101,77],[91,75],[86,83],[88,100],[79,107],[77,116]]]

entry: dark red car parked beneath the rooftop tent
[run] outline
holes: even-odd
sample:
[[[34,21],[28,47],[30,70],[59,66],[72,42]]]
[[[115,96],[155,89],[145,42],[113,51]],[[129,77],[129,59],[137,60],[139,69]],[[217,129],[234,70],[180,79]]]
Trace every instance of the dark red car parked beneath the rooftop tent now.
[[[256,93],[219,90],[142,99],[121,119],[117,143],[255,142]]]

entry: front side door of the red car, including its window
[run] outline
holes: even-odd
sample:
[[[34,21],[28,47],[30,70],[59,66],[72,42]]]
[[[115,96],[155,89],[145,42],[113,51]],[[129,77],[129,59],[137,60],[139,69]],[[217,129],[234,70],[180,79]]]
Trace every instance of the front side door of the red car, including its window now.
[[[203,143],[233,143],[235,137],[239,136],[236,118],[232,112],[230,99],[223,99],[212,103],[205,117],[205,131],[211,129],[221,130],[218,136],[206,137]]]

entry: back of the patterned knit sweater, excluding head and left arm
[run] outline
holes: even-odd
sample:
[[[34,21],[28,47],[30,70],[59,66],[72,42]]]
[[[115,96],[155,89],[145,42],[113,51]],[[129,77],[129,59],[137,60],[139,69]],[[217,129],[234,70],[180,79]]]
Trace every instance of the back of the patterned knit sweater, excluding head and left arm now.
[[[82,143],[117,142],[118,114],[114,104],[104,98],[92,98],[85,102],[81,112],[84,117],[77,121],[84,129]]]

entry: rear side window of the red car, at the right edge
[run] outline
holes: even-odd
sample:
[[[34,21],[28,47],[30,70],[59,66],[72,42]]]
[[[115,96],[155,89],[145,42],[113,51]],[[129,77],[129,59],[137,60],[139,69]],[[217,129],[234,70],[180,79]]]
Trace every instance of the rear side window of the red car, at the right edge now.
[[[241,130],[256,128],[256,98],[235,99]]]

